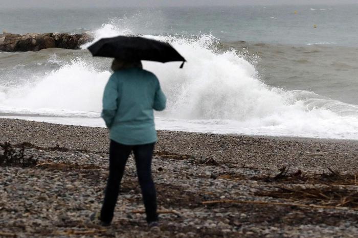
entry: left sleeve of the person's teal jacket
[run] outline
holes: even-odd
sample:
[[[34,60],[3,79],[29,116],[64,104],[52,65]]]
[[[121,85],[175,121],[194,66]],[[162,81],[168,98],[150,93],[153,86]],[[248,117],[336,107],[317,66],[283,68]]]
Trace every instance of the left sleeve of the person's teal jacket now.
[[[103,109],[101,113],[101,117],[104,119],[104,122],[109,129],[113,124],[117,112],[118,97],[117,83],[112,75],[104,88],[102,100]]]

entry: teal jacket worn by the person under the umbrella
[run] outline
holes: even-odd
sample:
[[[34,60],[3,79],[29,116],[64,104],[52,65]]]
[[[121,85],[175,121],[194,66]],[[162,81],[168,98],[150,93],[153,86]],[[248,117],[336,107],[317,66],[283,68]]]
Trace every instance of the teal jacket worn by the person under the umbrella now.
[[[156,142],[154,110],[165,108],[158,78],[142,68],[115,71],[105,86],[101,113],[110,139],[123,145]]]

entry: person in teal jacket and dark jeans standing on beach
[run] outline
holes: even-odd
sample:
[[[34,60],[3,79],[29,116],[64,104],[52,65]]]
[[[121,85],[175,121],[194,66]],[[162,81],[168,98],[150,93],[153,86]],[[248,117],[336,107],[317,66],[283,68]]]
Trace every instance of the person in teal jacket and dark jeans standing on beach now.
[[[117,203],[126,161],[135,156],[148,226],[158,227],[156,192],[151,176],[151,159],[157,140],[154,110],[164,110],[166,97],[156,76],[142,68],[141,61],[115,59],[114,71],[103,94],[103,117],[109,129],[109,176],[100,212],[90,220],[109,226]]]

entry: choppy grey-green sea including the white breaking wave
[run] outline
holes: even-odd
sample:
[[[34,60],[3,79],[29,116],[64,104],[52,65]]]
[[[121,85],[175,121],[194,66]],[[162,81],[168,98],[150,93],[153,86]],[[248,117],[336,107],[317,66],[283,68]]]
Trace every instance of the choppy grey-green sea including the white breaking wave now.
[[[156,113],[158,129],[358,139],[354,9],[0,10],[0,27],[170,42],[188,60],[183,69],[180,62],[143,62],[168,97],[167,109]],[[104,126],[110,60],[91,57],[86,46],[0,53],[0,116]]]

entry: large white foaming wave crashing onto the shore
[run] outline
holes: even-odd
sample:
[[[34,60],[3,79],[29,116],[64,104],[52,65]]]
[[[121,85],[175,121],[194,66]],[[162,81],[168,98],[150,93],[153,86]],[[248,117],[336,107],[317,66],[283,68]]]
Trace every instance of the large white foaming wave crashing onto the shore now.
[[[111,23],[94,32],[96,40],[119,34],[136,32]],[[357,105],[270,87],[255,63],[237,50],[219,49],[211,35],[145,37],[170,42],[188,61],[183,69],[181,62],[143,62],[168,97],[167,109],[156,114],[160,129],[358,139]],[[33,75],[38,78],[31,83],[1,87],[0,113],[98,117],[110,72],[90,59],[83,51],[44,76]]]

